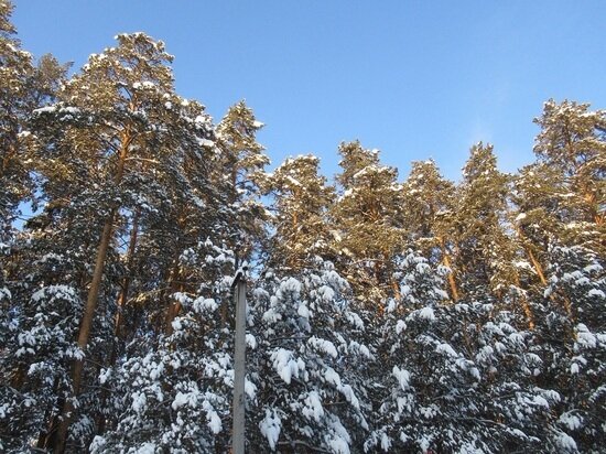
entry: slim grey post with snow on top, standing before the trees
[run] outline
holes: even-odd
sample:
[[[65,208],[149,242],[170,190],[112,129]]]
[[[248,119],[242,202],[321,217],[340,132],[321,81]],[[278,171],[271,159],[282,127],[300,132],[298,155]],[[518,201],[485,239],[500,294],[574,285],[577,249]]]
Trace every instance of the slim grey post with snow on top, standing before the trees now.
[[[240,268],[231,290],[236,302],[236,338],[234,346],[234,426],[231,454],[245,454],[245,375],[246,375],[246,272]]]

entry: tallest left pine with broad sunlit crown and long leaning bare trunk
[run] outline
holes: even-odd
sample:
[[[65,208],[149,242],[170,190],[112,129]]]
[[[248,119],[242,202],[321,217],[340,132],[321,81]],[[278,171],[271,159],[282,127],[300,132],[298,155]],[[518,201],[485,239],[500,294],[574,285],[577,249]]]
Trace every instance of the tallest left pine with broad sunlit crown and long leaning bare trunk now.
[[[163,43],[142,33],[117,39],[117,47],[91,55],[62,91],[59,104],[37,110],[45,141],[41,172],[47,179],[48,210],[79,199],[86,210],[84,220],[97,235],[91,241],[98,249],[78,332],[78,346],[85,353],[106,259],[115,253],[115,235],[125,228],[128,231],[123,221],[134,219],[134,215],[126,215],[137,209],[166,213],[177,202],[175,197],[183,201],[190,188],[180,171],[192,156],[204,160],[201,153],[205,153],[205,141],[212,136],[202,106],[174,94],[167,66],[172,56]],[[88,188],[83,190],[83,184]],[[74,365],[76,396],[83,383],[83,360]],[[66,406],[65,415],[74,401]],[[64,417],[53,442],[57,451],[65,445],[68,422]]]

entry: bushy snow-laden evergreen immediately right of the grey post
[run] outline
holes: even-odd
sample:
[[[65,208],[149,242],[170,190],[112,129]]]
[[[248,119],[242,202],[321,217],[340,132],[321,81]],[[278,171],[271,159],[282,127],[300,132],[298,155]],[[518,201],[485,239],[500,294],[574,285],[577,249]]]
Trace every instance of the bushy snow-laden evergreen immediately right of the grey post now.
[[[249,446],[349,453],[368,429],[361,372],[372,354],[346,281],[318,259],[293,275],[269,270],[252,294]]]

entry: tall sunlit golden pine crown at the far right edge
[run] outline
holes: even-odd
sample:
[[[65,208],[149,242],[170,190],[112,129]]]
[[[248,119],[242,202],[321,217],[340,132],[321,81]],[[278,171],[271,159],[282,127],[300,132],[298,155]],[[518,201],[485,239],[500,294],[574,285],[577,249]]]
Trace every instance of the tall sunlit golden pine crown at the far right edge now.
[[[604,253],[606,114],[550,99],[534,122],[541,127],[534,142],[538,161],[516,175],[511,199],[522,263],[531,271],[524,280],[542,304],[547,269],[558,266],[550,262],[550,248],[577,245]]]

